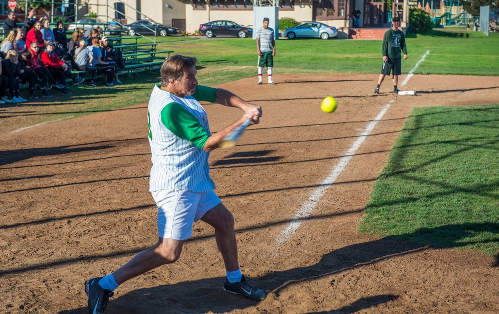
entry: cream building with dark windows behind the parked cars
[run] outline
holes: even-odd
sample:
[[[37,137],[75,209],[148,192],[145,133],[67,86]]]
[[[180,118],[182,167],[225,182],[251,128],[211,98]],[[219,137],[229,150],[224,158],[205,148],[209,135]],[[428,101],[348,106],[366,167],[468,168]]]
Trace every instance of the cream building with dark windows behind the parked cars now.
[[[192,33],[199,29],[200,24],[216,20],[231,20],[252,27],[253,5],[260,1],[264,0],[106,0],[105,3],[103,0],[89,0],[83,5],[93,12],[97,12],[95,7],[98,6],[99,16],[107,14],[110,19],[123,17],[124,24],[138,19],[152,19],[161,24],[175,26],[180,31]],[[405,27],[407,2],[408,0],[394,2],[390,9],[385,2],[369,0],[280,0],[277,3],[279,18],[292,17],[299,22],[322,22],[335,26],[338,29],[338,38],[348,38],[353,27],[351,13],[356,6],[362,12],[360,27],[388,27],[390,17],[395,14],[401,18],[402,27]],[[115,12],[115,8],[120,5],[125,16],[119,16]]]

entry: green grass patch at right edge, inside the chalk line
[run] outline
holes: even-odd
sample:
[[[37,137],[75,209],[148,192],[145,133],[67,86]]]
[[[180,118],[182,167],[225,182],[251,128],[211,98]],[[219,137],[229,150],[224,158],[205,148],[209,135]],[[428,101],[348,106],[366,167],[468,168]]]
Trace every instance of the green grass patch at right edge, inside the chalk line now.
[[[416,108],[360,230],[499,257],[499,105]]]

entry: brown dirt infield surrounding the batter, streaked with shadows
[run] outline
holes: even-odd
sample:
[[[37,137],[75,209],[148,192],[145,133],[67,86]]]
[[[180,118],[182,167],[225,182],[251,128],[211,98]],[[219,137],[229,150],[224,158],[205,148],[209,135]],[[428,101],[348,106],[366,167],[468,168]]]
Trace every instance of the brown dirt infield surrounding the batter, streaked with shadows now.
[[[263,106],[260,124],[238,146],[214,151],[210,164],[236,217],[243,273],[269,292],[265,301],[223,291],[214,233],[200,222],[178,262],[123,284],[106,313],[499,313],[494,259],[357,233],[410,110],[497,103],[497,77],[416,75],[403,89],[418,96],[388,93],[389,81],[372,95],[376,77],[275,75],[274,86],[255,78],[221,86]],[[320,111],[326,96],[338,101],[332,114]],[[278,244],[387,104],[311,216]],[[86,313],[83,282],[156,243],[146,107],[1,134],[0,313]],[[238,109],[205,108],[212,131],[240,117]]]

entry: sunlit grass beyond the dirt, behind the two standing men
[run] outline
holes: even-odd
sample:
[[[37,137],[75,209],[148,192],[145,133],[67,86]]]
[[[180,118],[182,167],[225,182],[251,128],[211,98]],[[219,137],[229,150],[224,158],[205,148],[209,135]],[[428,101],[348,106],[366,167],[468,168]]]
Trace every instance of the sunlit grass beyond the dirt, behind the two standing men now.
[[[196,55],[203,82],[220,83],[255,75],[256,47],[250,39],[228,38],[172,42],[169,49],[185,55]],[[497,75],[499,34],[489,37],[481,32],[436,30],[431,35],[407,38],[408,60],[403,72],[414,68],[429,50],[416,74]],[[378,73],[381,60],[379,40],[278,40],[274,59],[277,74],[309,73]],[[229,71],[228,75],[224,72]]]

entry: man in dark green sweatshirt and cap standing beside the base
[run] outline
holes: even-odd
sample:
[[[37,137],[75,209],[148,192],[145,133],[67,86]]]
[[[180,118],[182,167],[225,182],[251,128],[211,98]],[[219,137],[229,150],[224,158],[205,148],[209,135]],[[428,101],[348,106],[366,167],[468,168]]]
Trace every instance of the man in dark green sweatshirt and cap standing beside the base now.
[[[392,27],[386,31],[385,36],[383,37],[383,47],[381,49],[383,54],[383,67],[381,68],[381,74],[378,78],[378,86],[374,90],[374,94],[379,93],[379,87],[381,86],[381,83],[383,83],[385,75],[390,75],[392,69],[393,92],[399,92],[397,84],[399,81],[399,75],[401,74],[401,50],[404,53],[404,60],[407,59],[405,37],[404,33],[399,30],[399,26],[400,18],[395,16],[392,19]]]

